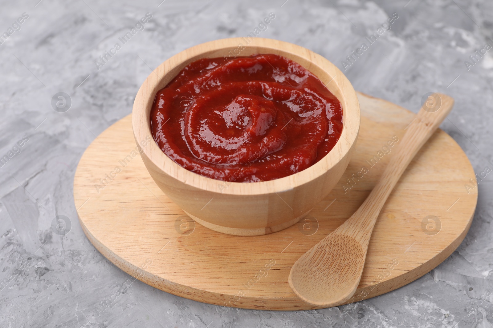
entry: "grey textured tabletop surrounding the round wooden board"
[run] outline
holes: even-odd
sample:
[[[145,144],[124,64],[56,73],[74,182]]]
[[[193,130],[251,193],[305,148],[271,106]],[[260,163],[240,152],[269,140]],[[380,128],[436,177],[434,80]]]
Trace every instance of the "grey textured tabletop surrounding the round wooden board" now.
[[[0,156],[8,157],[0,163],[1,327],[492,327],[493,2],[161,1],[1,3]],[[255,30],[271,12],[275,19]],[[136,25],[146,13],[152,18]],[[89,243],[72,198],[84,149],[131,112],[162,61],[251,32],[307,47],[338,65],[355,89],[415,112],[429,91],[456,99],[442,128],[486,178],[469,234],[444,263],[354,304],[223,313],[134,282]],[[368,49],[348,60],[362,43]],[[52,102],[58,92],[70,96],[70,110],[67,97],[59,107],[61,98]],[[60,215],[66,234],[56,229]]]

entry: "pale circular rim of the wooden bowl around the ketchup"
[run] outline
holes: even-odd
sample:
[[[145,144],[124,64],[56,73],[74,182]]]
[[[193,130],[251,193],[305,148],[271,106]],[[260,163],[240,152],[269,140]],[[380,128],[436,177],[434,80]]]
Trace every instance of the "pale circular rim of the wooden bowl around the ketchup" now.
[[[242,46],[243,49],[241,48]],[[231,57],[232,50],[233,56],[236,55],[237,50],[239,50],[239,54],[236,56],[248,56],[248,54],[243,55],[241,53],[247,48],[248,52],[252,54],[278,54],[290,59],[296,58],[294,61],[317,76],[325,84],[326,88],[336,95],[343,108],[343,130],[333,149],[309,168],[283,178],[260,182],[230,182],[204,177],[188,171],[169,158],[155,142],[145,142],[145,140],[149,140],[149,137],[151,141],[154,141],[150,130],[150,108],[159,89],[164,88],[184,66],[194,60],[221,57],[220,54],[227,55],[228,53]],[[317,74],[314,70],[317,71]],[[319,76],[320,74],[324,75],[323,73],[327,76]],[[340,95],[337,96],[336,93]],[[141,147],[141,155],[145,155],[161,173],[181,183],[211,193],[226,195],[279,193],[317,179],[351,153],[351,148],[353,148],[359,132],[360,119],[356,92],[347,77],[337,66],[304,47],[275,39],[258,37],[251,40],[244,37],[213,40],[179,52],[165,60],[149,74],[137,92],[132,109],[132,127],[136,143]]]

